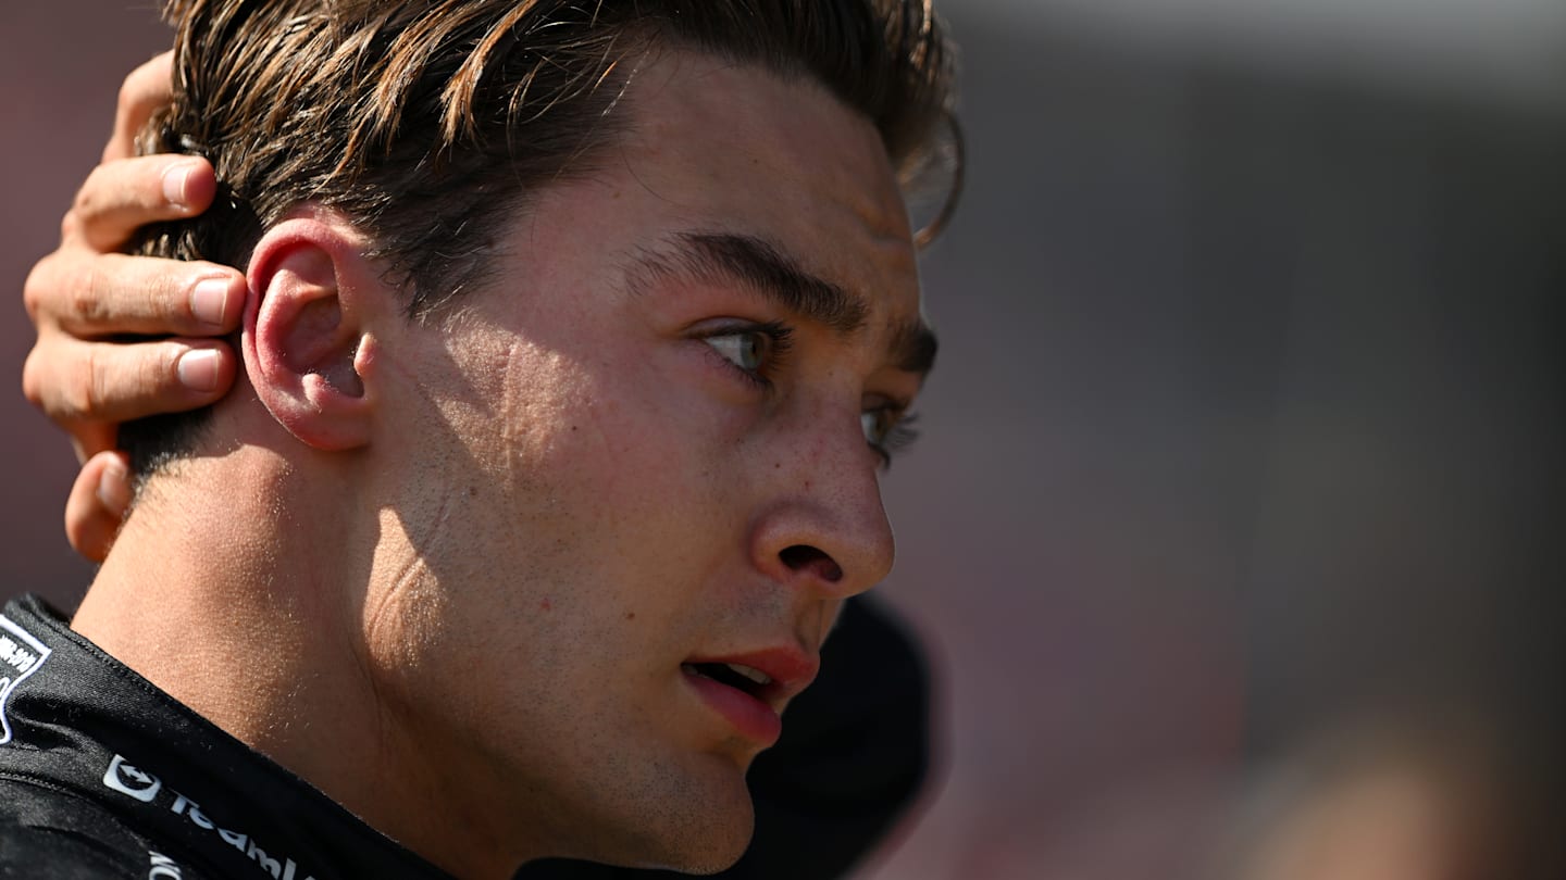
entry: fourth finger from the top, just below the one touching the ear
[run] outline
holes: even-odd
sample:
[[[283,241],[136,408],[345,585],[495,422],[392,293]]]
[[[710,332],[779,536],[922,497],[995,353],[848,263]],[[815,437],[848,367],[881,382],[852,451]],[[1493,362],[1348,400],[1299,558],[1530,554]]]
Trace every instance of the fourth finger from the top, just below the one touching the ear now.
[[[233,384],[233,349],[218,340],[89,343],[39,340],[22,365],[22,393],[66,426],[128,421],[215,402]]]

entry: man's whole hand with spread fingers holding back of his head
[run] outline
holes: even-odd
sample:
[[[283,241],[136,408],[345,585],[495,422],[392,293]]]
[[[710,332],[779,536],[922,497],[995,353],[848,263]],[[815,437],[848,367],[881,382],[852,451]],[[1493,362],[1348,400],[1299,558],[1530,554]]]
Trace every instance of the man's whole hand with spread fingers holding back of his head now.
[[[61,222],[60,247],[27,279],[38,329],[22,390],[70,434],[81,473],[66,503],[66,536],[102,561],[130,504],[122,421],[211,404],[233,384],[222,335],[240,326],[244,276],[216,263],[121,254],[141,225],[207,210],[213,169],[196,157],[135,157],[136,132],[169,100],[171,55],[133,70],[119,94],[103,164]],[[133,335],[136,341],[117,341]]]

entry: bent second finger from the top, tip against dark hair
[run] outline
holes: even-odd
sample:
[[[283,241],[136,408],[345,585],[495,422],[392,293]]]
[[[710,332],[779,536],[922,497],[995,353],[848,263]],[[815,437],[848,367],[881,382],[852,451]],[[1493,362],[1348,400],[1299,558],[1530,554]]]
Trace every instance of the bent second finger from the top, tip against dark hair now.
[[[61,238],[94,251],[117,251],[138,227],[199,215],[218,194],[200,157],[155,155],[100,164],[88,175],[61,224]]]

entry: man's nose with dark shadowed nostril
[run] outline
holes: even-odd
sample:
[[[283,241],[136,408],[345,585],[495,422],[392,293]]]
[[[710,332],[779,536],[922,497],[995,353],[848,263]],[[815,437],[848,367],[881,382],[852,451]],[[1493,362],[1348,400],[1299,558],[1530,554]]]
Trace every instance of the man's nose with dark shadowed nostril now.
[[[755,526],[756,565],[780,582],[846,598],[891,572],[891,523],[875,456],[852,431],[799,437],[770,468],[772,492]]]

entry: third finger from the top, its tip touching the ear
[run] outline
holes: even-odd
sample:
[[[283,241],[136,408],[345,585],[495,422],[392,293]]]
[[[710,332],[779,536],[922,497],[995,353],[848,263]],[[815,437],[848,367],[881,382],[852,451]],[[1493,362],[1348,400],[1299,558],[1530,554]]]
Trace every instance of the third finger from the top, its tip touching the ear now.
[[[215,337],[240,326],[244,276],[218,263],[66,251],[22,287],[33,323],[74,337]]]

